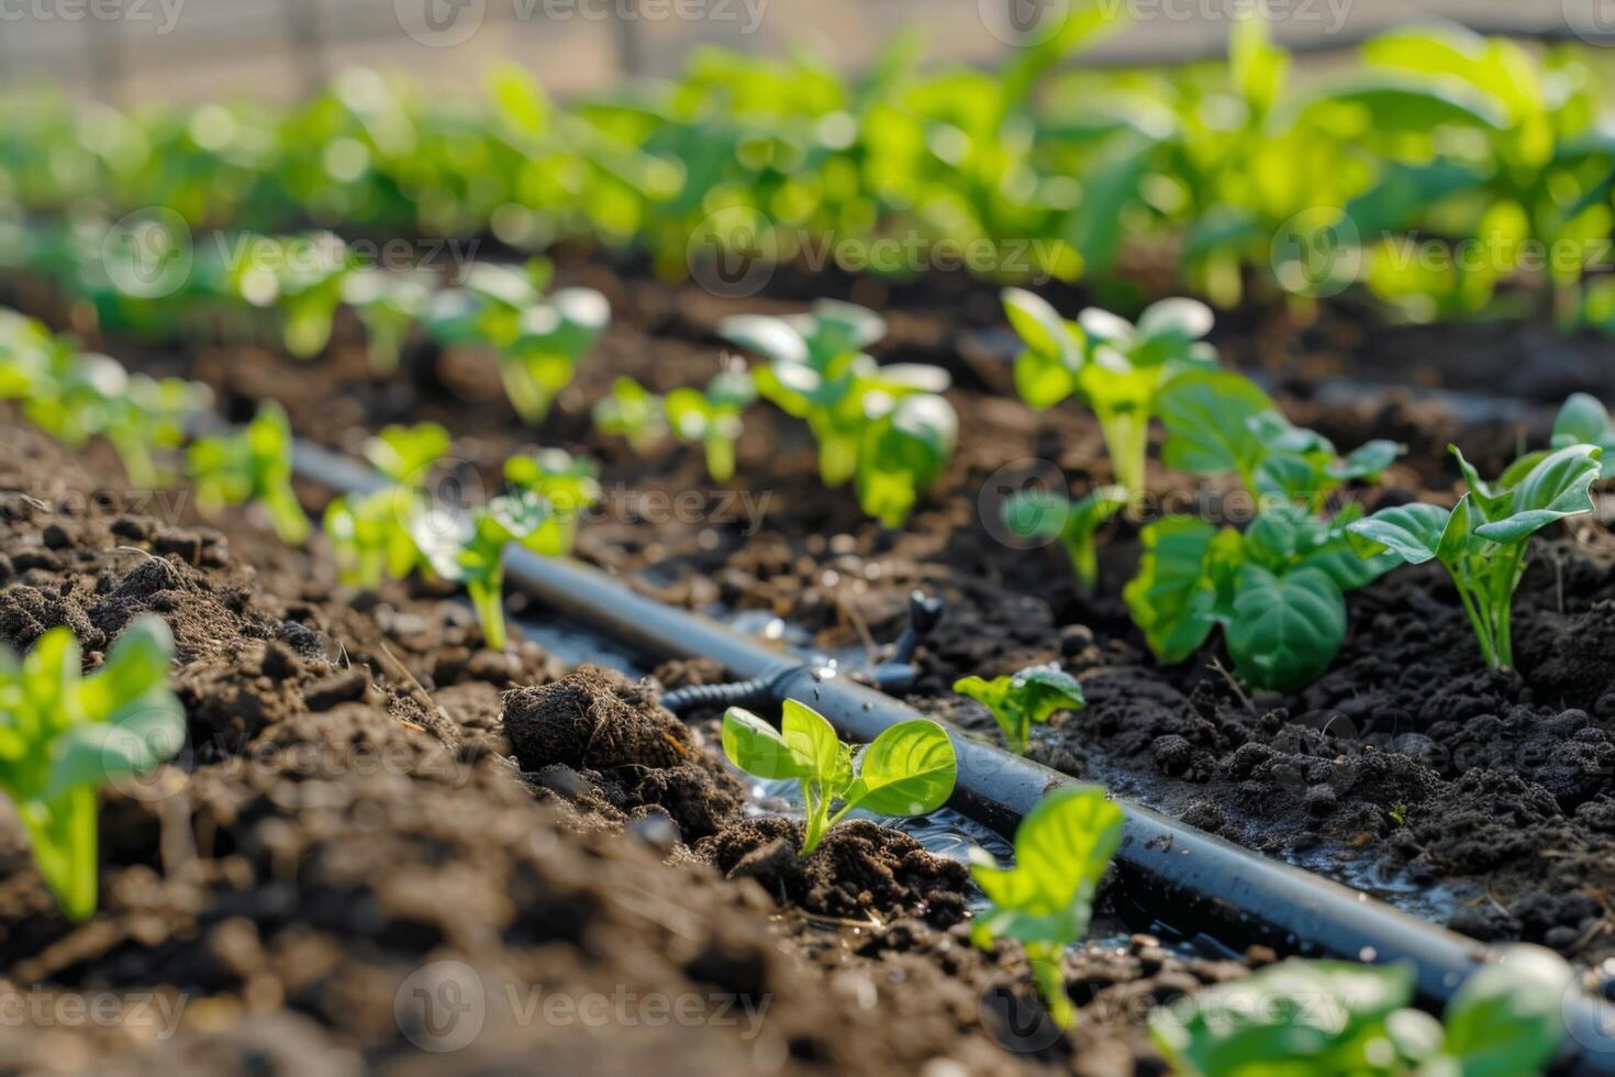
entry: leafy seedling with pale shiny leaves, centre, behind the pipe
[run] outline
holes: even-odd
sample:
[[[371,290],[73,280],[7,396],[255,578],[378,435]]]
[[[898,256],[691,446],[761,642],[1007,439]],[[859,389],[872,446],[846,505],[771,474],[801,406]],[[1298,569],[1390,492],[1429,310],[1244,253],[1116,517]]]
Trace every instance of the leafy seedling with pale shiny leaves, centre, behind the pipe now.
[[[825,486],[856,478],[864,512],[901,526],[958,446],[958,415],[942,396],[948,373],[880,367],[864,349],[885,336],[885,321],[835,300],[782,318],[735,315],[719,333],[769,360],[754,371],[757,391],[808,421]]]

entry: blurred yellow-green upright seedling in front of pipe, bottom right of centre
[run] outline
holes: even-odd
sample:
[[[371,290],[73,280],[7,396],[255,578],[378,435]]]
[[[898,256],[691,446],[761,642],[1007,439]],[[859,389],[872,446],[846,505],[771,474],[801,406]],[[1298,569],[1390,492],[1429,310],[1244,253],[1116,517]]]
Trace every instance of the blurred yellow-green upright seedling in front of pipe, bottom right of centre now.
[[[1093,895],[1121,844],[1124,815],[1092,786],[1047,794],[1014,833],[1014,867],[998,867],[975,849],[971,877],[992,901],[975,917],[971,938],[987,949],[995,938],[1016,938],[1048,1016],[1069,1029],[1077,1011],[1066,993],[1063,954],[1082,941],[1093,916]]]

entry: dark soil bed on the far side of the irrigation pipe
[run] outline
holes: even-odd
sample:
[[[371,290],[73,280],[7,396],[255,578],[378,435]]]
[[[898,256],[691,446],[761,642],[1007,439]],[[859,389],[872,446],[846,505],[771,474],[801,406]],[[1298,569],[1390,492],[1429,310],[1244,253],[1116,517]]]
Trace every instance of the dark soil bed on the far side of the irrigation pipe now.
[[[588,402],[612,378],[659,391],[701,383],[719,367],[717,316],[782,304],[703,299],[588,266],[570,274],[601,286],[619,312],[536,431],[606,462],[604,515],[578,541],[586,560],[677,604],[769,612],[841,656],[895,633],[909,589],[927,586],[951,612],[922,656],[911,699],[922,712],[987,730],[985,712],[951,694],[958,677],[1059,659],[1090,706],[1042,738],[1034,757],[1479,938],[1541,941],[1588,967],[1615,956],[1602,898],[1615,864],[1615,572],[1602,530],[1571,526],[1536,557],[1516,602],[1520,675],[1484,670],[1439,572],[1407,570],[1352,596],[1352,633],[1331,673],[1295,696],[1248,698],[1208,665],[1213,652],[1176,668],[1147,657],[1116,597],[1137,557],[1129,523],[1101,549],[1105,586],[1093,599],[1079,594],[1058,547],[1019,549],[990,525],[993,486],[1013,484],[1029,460],[1055,463],[1077,488],[1108,478],[1108,465],[1087,415],[1071,405],[1032,415],[1009,397],[1008,368],[975,344],[980,312],[969,304],[951,321],[933,305],[891,315],[890,355],[953,370],[964,423],[938,488],[908,530],[887,533],[845,492],[819,486],[811,442],[770,412],[748,415],[738,476],[724,486],[704,476],[694,450],[638,457],[588,423]],[[1286,341],[1268,323],[1235,323],[1229,333],[1247,329],[1219,341],[1224,352],[1256,362],[1276,354],[1302,373],[1342,362],[1316,347],[1313,331]],[[352,337],[338,339],[310,365],[250,349],[144,362],[208,381],[236,417],[281,399],[300,434],[344,449],[384,421],[433,418],[457,436],[455,455],[493,475],[535,439],[491,370],[417,357],[412,379],[376,383]],[[1520,349],[1518,368],[1541,362],[1537,344],[1531,334],[1497,341]],[[1347,355],[1355,363],[1360,352]],[[1462,370],[1442,370],[1437,381],[1476,388]],[[1476,426],[1439,400],[1395,391],[1342,402],[1308,399],[1298,375],[1282,384],[1294,418],[1344,444],[1408,442],[1387,483],[1361,491],[1368,509],[1450,499],[1447,441],[1495,470],[1521,441],[1541,444],[1550,417]],[[1151,494],[1200,488],[1151,463]]]

